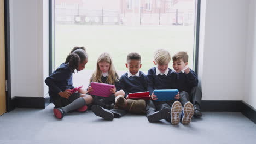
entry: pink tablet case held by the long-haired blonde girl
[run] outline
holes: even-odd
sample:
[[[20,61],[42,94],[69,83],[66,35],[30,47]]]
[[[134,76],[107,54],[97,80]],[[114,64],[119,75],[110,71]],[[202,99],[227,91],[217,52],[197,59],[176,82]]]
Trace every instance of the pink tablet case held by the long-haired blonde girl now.
[[[106,83],[91,82],[91,87],[94,89],[91,95],[97,95],[101,97],[109,97],[112,93],[111,88],[115,88],[115,85],[109,85]]]

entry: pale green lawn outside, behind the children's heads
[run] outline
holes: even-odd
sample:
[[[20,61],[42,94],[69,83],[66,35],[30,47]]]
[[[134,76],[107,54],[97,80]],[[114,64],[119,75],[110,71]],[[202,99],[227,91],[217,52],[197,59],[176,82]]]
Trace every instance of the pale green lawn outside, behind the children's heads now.
[[[187,51],[189,66],[193,62],[194,30],[191,26],[86,26],[55,25],[55,68],[66,59],[74,46],[84,46],[89,55],[85,69],[95,69],[98,56],[109,52],[117,70],[127,70],[126,56],[138,52],[142,71],[153,67],[156,49],[167,49],[171,56]],[[169,65],[172,68],[172,61]]]

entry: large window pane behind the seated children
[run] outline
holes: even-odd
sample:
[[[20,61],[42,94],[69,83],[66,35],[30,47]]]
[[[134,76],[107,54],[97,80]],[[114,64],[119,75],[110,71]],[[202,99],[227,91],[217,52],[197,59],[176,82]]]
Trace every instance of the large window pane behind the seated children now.
[[[84,46],[88,51],[89,62],[78,74],[86,82],[85,75],[96,68],[97,57],[103,52],[112,55],[120,74],[127,70],[126,56],[130,52],[141,54],[141,70],[147,72],[154,67],[153,53],[159,48],[167,49],[171,55],[187,51],[189,67],[193,68],[195,3],[196,0],[55,0],[55,68],[74,46]]]

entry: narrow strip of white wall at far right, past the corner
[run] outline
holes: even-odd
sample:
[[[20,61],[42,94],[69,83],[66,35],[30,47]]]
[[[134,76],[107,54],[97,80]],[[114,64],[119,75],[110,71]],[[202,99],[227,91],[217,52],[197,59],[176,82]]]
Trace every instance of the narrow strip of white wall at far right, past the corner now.
[[[256,109],[256,2],[249,1],[249,22],[246,47],[245,95],[243,100]]]

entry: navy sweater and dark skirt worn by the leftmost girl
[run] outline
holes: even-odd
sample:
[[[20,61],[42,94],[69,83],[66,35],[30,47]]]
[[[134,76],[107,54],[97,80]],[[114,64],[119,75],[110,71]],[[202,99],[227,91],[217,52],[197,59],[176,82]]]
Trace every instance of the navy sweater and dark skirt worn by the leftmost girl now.
[[[73,93],[68,99],[66,99],[58,94],[66,89],[74,88],[72,77],[73,72],[69,68],[69,63],[62,63],[60,67],[53,72],[53,74],[45,79],[45,83],[49,87],[49,96],[55,107],[64,107],[80,97],[79,93]]]

